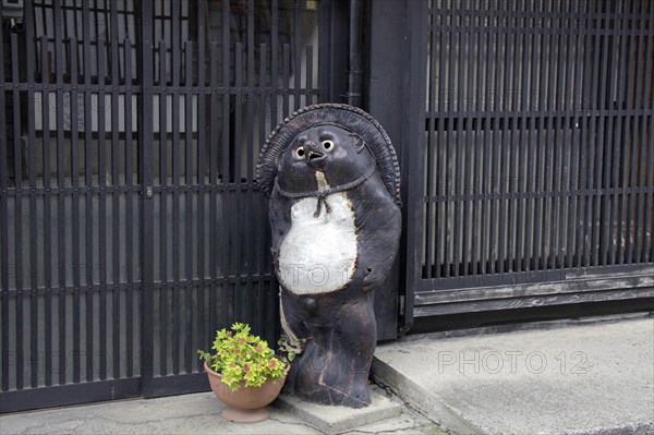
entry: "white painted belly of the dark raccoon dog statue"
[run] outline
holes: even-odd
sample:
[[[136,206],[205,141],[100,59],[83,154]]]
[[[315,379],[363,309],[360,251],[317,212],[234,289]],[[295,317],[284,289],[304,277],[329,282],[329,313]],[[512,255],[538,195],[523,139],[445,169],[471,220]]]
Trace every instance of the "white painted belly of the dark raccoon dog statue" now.
[[[279,279],[295,294],[326,293],[343,288],[356,267],[354,212],[346,193],[334,193],[318,217],[317,198],[291,207],[291,229],[279,247]]]

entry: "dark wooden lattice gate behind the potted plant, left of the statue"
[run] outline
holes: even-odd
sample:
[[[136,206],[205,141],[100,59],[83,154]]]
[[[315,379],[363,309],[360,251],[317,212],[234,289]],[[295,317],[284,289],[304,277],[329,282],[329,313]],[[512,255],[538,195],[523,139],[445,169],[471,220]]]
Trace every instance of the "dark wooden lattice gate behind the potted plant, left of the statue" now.
[[[278,336],[253,170],[279,121],[342,92],[332,2],[16,5],[0,36],[0,410],[206,390],[196,350],[217,328]]]

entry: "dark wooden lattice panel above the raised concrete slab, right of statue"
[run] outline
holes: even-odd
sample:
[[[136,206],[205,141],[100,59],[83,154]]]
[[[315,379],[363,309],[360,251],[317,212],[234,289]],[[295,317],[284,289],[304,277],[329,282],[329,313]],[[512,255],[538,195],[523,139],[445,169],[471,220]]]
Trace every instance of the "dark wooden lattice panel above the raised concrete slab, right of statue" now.
[[[409,8],[407,322],[651,298],[652,2]]]

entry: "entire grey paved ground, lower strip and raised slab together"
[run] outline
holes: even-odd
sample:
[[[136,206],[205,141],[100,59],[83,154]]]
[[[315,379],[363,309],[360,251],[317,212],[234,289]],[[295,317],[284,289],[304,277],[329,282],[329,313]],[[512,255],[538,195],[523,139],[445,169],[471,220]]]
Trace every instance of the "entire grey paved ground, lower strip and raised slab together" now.
[[[651,314],[409,336],[373,373],[401,412],[347,434],[654,434]],[[251,425],[221,409],[211,392],[124,400],[2,415],[0,434],[320,433],[287,408]]]

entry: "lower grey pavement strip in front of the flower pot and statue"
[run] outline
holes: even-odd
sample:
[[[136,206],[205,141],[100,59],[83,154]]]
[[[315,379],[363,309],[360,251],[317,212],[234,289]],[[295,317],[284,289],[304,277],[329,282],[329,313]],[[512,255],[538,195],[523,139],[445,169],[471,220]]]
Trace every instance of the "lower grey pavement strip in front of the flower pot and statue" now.
[[[380,390],[380,394],[385,391]],[[397,398],[396,398],[397,400]],[[58,408],[0,416],[0,434],[320,434],[290,411],[270,407],[254,424],[223,420],[213,392]],[[444,434],[438,425],[402,406],[398,416],[347,434]]]

